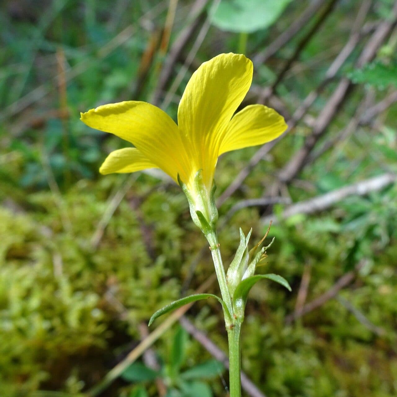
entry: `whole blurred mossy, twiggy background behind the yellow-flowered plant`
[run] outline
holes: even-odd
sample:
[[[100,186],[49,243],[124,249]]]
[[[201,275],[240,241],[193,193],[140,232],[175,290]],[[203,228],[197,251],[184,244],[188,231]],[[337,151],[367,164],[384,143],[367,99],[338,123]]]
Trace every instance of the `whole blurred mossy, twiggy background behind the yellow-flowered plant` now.
[[[219,293],[181,189],[98,173],[126,143],[79,112],[144,100],[176,119],[222,52],[289,125],[225,154],[225,264],[273,225],[243,327],[243,394],[397,396],[397,2],[14,0],[0,5],[0,395],[227,396]],[[153,333],[152,333],[153,332]],[[142,344],[144,341],[144,344]]]

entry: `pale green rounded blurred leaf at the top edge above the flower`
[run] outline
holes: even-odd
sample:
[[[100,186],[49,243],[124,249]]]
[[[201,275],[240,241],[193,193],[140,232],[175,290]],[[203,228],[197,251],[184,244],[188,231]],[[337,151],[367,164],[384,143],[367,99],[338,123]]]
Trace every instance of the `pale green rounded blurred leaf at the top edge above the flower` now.
[[[291,0],[222,0],[212,23],[230,32],[252,33],[277,21]]]

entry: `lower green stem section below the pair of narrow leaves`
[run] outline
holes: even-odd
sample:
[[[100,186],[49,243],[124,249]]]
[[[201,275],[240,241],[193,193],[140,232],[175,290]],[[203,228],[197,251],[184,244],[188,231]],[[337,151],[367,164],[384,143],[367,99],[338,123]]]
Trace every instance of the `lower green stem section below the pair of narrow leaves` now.
[[[229,388],[230,397],[241,397],[241,323],[235,322],[234,327],[227,331],[229,340]]]

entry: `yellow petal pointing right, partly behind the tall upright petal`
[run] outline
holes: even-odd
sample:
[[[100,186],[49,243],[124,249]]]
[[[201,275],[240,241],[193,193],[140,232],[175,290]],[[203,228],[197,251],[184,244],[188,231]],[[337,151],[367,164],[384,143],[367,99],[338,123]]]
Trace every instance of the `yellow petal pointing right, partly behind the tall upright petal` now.
[[[276,139],[287,129],[276,110],[263,105],[249,105],[230,121],[219,154]]]

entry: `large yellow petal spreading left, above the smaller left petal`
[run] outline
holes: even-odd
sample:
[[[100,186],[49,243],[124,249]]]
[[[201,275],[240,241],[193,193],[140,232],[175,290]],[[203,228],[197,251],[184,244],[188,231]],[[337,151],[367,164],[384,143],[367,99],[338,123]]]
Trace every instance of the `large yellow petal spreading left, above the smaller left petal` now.
[[[189,158],[175,122],[161,109],[140,101],[99,106],[81,114],[89,127],[117,135],[177,181],[188,177]]]

